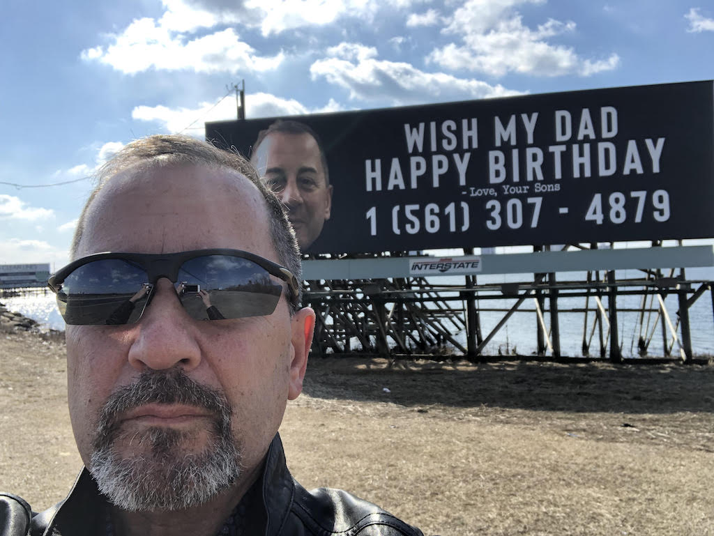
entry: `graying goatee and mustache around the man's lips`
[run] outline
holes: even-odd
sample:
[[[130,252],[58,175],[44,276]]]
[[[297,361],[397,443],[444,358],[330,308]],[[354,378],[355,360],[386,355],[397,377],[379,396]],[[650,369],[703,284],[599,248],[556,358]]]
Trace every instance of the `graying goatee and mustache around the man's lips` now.
[[[179,403],[209,410],[215,418],[211,439],[201,452],[181,445],[191,435],[151,427],[141,434],[121,430],[119,416],[149,403]],[[118,443],[131,443],[141,454],[122,458]],[[228,489],[242,472],[242,447],[231,433],[231,410],[225,395],[188,378],[180,368],[149,370],[133,385],[107,400],[99,418],[89,471],[116,506],[130,511],[183,510],[201,505]]]

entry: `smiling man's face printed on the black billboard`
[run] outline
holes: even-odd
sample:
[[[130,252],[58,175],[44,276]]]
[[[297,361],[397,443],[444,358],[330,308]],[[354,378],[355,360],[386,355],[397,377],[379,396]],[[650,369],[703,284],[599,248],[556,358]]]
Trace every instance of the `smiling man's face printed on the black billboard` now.
[[[306,250],[320,236],[332,206],[332,186],[326,182],[315,138],[308,133],[268,134],[253,163],[288,208],[298,245]]]

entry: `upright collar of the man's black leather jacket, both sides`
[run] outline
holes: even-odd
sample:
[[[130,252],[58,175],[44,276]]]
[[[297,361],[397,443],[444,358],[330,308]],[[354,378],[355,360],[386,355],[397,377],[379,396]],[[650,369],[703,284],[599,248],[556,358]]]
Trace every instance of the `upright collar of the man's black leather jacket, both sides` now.
[[[295,483],[286,465],[279,434],[268,447],[258,485],[267,520],[265,536],[276,536],[286,522],[295,493]],[[106,504],[106,498],[85,467],[65,500],[33,518],[31,533],[46,536],[104,534]]]

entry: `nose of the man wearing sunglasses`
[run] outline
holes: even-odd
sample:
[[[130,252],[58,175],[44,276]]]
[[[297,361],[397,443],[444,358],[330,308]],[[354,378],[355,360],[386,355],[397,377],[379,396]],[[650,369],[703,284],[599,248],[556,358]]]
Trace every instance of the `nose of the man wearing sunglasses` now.
[[[176,365],[183,370],[196,368],[201,363],[201,348],[195,326],[178,301],[174,285],[161,278],[153,292],[129,348],[129,363],[139,370],[165,370]]]

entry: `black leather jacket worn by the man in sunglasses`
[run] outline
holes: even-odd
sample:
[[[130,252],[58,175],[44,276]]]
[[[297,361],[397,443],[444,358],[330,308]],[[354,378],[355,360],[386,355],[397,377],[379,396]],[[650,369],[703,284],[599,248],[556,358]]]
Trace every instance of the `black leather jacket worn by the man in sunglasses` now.
[[[266,536],[423,536],[342,490],[308,492],[288,471],[279,435],[268,448],[261,478]],[[104,497],[85,469],[64,501],[39,514],[31,512],[20,497],[0,493],[0,536],[104,535],[104,511]]]

